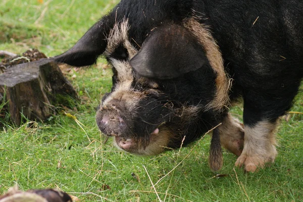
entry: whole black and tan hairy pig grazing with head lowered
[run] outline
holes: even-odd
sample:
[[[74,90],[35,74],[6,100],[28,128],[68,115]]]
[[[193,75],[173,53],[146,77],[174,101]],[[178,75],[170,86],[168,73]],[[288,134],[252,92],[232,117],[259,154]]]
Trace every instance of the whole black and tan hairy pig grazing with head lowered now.
[[[277,121],[303,76],[300,0],[122,0],[59,62],[87,66],[103,55],[113,87],[96,123],[120,149],[156,155],[213,132],[254,172],[277,155]],[[243,122],[228,113],[243,98]]]

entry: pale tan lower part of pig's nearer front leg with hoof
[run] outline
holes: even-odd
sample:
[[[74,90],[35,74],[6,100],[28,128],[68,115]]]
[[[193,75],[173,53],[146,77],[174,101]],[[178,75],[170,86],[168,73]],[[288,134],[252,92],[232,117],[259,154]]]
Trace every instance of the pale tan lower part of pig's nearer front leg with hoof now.
[[[258,168],[264,168],[266,163],[274,162],[276,150],[277,123],[260,121],[254,127],[244,126],[244,148],[235,165],[244,165],[248,172],[255,172]]]

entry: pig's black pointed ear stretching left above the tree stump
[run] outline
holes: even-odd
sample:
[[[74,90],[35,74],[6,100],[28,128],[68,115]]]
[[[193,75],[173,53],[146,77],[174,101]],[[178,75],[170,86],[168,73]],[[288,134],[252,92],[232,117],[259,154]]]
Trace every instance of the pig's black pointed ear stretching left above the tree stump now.
[[[91,65],[105,51],[106,45],[102,22],[97,22],[71,49],[56,56],[55,60],[73,66]]]

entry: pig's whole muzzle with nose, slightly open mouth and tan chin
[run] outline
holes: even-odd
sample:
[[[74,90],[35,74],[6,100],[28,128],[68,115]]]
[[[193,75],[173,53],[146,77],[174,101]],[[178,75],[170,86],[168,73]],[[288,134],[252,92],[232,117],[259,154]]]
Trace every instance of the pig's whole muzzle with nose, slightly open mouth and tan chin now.
[[[127,97],[124,95],[124,97]],[[168,114],[154,99],[111,99],[103,101],[96,113],[96,122],[121,150],[138,155],[160,154],[178,137],[159,116]],[[131,99],[132,98],[132,99]]]

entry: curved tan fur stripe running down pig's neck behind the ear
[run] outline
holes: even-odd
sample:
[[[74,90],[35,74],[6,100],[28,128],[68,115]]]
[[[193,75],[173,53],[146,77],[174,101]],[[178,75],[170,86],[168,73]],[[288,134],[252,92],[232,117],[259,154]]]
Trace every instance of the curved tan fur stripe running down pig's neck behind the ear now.
[[[205,25],[201,25],[194,18],[184,20],[183,25],[198,39],[199,43],[204,47],[206,56],[209,59],[213,70],[217,73],[216,97],[208,104],[207,109],[213,108],[216,110],[222,110],[225,106],[229,105],[229,81],[224,71],[223,58],[220,48],[208,28]]]

